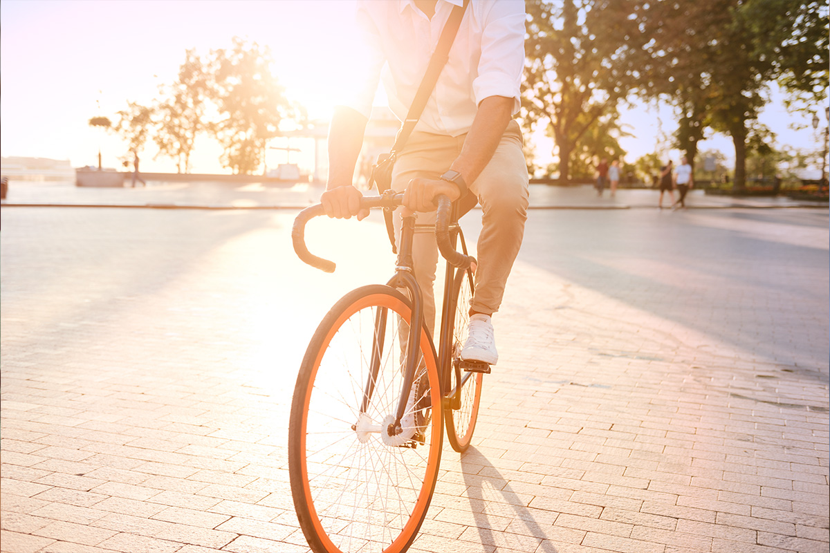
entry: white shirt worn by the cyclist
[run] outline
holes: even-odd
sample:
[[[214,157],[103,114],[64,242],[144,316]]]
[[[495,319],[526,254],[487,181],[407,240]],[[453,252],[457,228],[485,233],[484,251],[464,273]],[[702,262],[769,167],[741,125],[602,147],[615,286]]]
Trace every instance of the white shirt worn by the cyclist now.
[[[368,118],[383,73],[389,108],[403,121],[452,7],[461,3],[438,0],[431,20],[413,0],[358,0],[356,18],[365,45],[356,56],[362,61],[356,90],[344,104]],[[489,96],[513,98],[516,113],[524,65],[525,2],[470,0],[449,61],[415,129],[466,133],[478,104]]]

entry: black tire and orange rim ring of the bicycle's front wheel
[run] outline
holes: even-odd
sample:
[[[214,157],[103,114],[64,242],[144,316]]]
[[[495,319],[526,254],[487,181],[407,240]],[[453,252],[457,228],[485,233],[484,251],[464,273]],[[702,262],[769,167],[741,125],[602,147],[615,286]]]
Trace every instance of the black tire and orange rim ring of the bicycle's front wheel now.
[[[314,500],[312,498],[312,492],[310,491],[308,473],[305,466],[305,424],[307,424],[310,394],[313,389],[315,376],[317,376],[317,370],[325,358],[324,349],[329,347],[331,340],[336,336],[335,330],[337,325],[345,323],[347,319],[344,319],[344,317],[349,312],[357,313],[360,311],[360,309],[354,307],[355,305],[367,302],[371,305],[381,303],[379,300],[369,301],[367,298],[392,298],[383,300],[383,303],[386,303],[386,307],[397,305],[399,306],[397,312],[403,315],[404,320],[411,318],[411,302],[402,293],[391,287],[382,284],[370,284],[347,293],[334,304],[311,338],[302,365],[300,366],[299,374],[297,375],[294,396],[291,402],[291,421],[288,440],[288,467],[291,480],[291,495],[297,518],[300,521],[300,528],[305,535],[306,541],[308,541],[309,546],[315,553],[347,552],[339,549],[339,546],[334,545],[331,537],[325,532],[323,523],[320,521],[320,517],[317,516],[313,505]],[[426,332],[426,327],[424,327],[424,333]],[[422,334],[422,336],[425,336],[425,334]],[[423,345],[424,342],[426,342],[426,346]],[[428,340],[422,341],[422,355],[425,358],[429,355],[432,356],[432,359],[436,358],[434,349]],[[430,389],[440,390],[440,379],[434,361],[427,362],[427,374],[429,375],[428,381]],[[389,546],[383,546],[384,553],[387,551],[389,553],[403,553],[408,550],[417,536],[417,532],[427,515],[429,504],[432,501],[432,492],[435,489],[441,462],[443,421],[441,394],[436,391],[430,397],[433,405],[432,420],[429,422],[430,428],[432,429],[432,438],[427,454],[427,475],[423,479],[420,491],[418,492],[416,506],[413,508],[413,512],[409,513],[410,518],[405,525],[402,525],[402,531],[393,543]],[[415,513],[414,516],[413,513]],[[404,536],[404,531],[408,535]]]

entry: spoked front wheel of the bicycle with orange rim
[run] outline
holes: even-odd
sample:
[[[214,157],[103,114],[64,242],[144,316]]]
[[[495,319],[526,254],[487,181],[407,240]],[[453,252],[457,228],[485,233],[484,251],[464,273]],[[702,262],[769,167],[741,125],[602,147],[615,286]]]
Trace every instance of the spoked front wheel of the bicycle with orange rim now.
[[[288,466],[300,527],[317,553],[402,553],[438,473],[442,409],[436,356],[422,330],[417,431],[390,435],[403,385],[407,298],[383,285],[346,294],[305,353],[291,404]],[[412,424],[410,424],[412,426]]]

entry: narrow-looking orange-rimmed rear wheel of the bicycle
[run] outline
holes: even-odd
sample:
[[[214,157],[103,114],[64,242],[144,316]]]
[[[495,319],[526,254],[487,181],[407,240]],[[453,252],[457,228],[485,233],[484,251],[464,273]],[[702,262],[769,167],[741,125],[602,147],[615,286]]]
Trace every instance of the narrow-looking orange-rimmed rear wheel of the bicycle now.
[[[484,376],[481,372],[462,371],[461,349],[467,338],[467,325],[470,323],[470,306],[475,290],[471,269],[458,269],[452,284],[452,308],[455,319],[452,323],[452,352],[450,371],[451,400],[444,409],[447,421],[447,440],[459,453],[470,447],[473,430],[478,419],[478,405],[481,400],[481,384]]]

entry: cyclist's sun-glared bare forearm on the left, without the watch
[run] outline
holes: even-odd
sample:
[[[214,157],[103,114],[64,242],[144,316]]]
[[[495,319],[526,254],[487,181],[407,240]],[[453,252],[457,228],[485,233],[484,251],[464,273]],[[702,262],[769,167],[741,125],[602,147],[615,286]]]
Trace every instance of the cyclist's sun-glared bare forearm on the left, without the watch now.
[[[363,148],[367,119],[354,109],[338,107],[329,125],[329,178],[326,190],[352,184]]]

